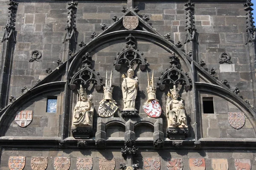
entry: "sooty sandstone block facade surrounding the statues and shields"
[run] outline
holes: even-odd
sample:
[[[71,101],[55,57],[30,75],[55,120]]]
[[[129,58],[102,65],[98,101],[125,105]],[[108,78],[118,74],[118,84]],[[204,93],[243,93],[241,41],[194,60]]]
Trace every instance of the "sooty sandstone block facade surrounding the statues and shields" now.
[[[227,159],[229,170],[237,168],[236,159],[249,159],[251,169],[256,169],[256,59],[250,0],[17,3],[0,0],[1,170],[10,169],[10,156],[26,157],[24,170],[31,169],[33,156],[48,157],[47,170],[55,168],[55,157],[70,158],[70,170],[76,169],[78,157],[93,158],[93,170],[102,168],[99,159],[103,157],[115,158],[114,169],[119,164],[146,169],[145,158],[160,159],[156,170],[169,170],[166,161],[171,158],[182,159],[183,170],[189,169],[192,158],[204,158],[206,170],[216,162],[213,159]],[[136,6],[140,11],[133,10]],[[137,28],[126,30],[124,16],[137,17]],[[132,63],[139,81],[135,101],[139,114],[135,117],[122,114],[122,74],[128,65],[120,63],[117,69],[115,64],[131,45],[126,38],[130,34],[132,48],[146,63]],[[92,128],[82,131],[88,133],[87,139],[77,138],[72,129],[77,83],[81,83],[75,77],[83,69],[94,79],[83,84],[95,108]],[[170,79],[175,83],[162,81],[172,69],[183,80],[174,76]],[[104,97],[106,71],[111,70],[112,96],[119,109],[112,118],[102,118],[97,111]],[[156,99],[162,107],[159,118],[148,117],[142,107],[148,95],[147,71],[151,75],[153,70]],[[84,75],[83,81],[90,79]],[[166,116],[167,95],[173,85],[180,89],[188,125],[176,137],[170,137],[175,132],[167,127]],[[57,105],[50,113],[47,101],[52,98]],[[205,101],[212,102],[212,113],[204,113]],[[15,116],[24,110],[32,111],[33,118],[23,128]],[[244,124],[233,118],[241,127],[231,126],[229,113],[243,113]]]

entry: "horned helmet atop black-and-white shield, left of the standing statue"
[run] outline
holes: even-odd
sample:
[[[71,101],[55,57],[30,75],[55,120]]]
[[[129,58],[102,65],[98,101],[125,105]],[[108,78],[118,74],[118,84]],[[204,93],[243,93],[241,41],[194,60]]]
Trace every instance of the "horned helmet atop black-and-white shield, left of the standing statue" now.
[[[103,87],[104,97],[99,102],[99,110],[98,110],[98,114],[101,117],[113,116],[118,109],[118,107],[116,106],[116,101],[113,100],[112,98],[112,92],[113,92],[112,74],[113,74],[113,71],[111,71],[110,79],[108,79],[108,71],[106,71],[106,82],[105,82],[105,86]]]

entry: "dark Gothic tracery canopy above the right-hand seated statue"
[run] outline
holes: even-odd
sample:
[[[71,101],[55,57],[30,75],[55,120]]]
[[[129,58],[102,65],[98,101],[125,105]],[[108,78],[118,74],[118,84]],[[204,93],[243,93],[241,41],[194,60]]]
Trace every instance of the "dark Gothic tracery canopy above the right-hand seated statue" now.
[[[192,80],[187,73],[182,71],[179,58],[175,53],[172,54],[172,56],[169,56],[169,58],[171,59],[170,68],[166,68],[165,73],[162,72],[162,76],[159,77],[159,82],[157,83],[160,90],[163,91],[166,84],[180,84],[184,86],[185,91],[189,91],[192,87]]]

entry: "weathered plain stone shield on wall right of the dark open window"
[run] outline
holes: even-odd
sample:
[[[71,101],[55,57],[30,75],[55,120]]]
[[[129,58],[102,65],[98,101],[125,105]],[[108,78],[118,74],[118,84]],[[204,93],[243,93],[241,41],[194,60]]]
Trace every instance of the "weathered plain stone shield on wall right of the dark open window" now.
[[[228,122],[235,129],[241,129],[245,124],[245,116],[242,112],[229,112]]]

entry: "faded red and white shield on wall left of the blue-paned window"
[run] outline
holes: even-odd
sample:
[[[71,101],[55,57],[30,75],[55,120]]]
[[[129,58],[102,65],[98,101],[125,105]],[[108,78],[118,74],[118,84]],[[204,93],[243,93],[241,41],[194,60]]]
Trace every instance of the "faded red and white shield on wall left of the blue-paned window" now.
[[[33,118],[33,111],[20,111],[15,116],[15,122],[20,127],[26,127],[32,122],[32,118]]]

